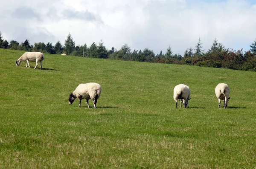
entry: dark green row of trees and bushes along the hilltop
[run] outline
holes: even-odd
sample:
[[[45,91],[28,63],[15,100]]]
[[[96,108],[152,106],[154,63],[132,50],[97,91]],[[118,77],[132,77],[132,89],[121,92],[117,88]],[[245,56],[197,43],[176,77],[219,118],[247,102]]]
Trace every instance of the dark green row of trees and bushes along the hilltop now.
[[[153,50],[145,48],[143,51],[131,51],[131,48],[124,44],[120,50],[112,47],[107,49],[102,40],[96,44],[93,42],[90,46],[76,45],[73,37],[69,33],[64,45],[60,41],[55,45],[48,42],[38,42],[30,45],[29,40],[24,42],[17,42],[11,40],[8,42],[3,39],[0,32],[0,48],[21,50],[21,51],[40,51],[49,54],[67,54],[79,57],[93,57],[103,59],[122,59],[137,62],[154,62],[166,64],[180,64],[180,65],[197,65],[207,66],[213,68],[229,68],[234,70],[249,70],[256,71],[256,39],[250,45],[250,51],[243,52],[242,49],[235,51],[233,49],[226,49],[215,38],[212,42],[211,48],[208,51],[202,50],[201,38],[199,37],[195,48],[187,48],[183,55],[173,54],[172,48],[169,46],[164,54],[160,51],[159,54],[154,54]]]

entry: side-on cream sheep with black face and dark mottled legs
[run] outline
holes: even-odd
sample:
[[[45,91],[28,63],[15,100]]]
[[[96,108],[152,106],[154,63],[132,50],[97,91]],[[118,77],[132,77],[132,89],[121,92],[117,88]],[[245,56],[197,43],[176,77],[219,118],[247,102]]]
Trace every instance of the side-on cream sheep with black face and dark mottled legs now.
[[[99,99],[101,90],[101,85],[99,85],[98,83],[80,84],[76,87],[76,90],[74,90],[73,93],[70,94],[68,98],[69,104],[72,104],[75,99],[78,98],[78,107],[81,107],[81,100],[86,99],[86,104],[88,108],[90,108],[89,99],[92,99],[93,107],[96,108],[97,99]]]

